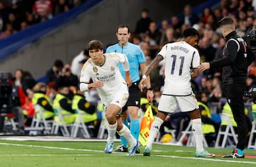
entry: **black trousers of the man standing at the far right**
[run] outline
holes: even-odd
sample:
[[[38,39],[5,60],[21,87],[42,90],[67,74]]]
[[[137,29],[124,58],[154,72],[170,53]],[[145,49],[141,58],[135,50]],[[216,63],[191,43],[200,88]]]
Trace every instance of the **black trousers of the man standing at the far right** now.
[[[245,115],[245,105],[243,102],[243,93],[245,92],[245,83],[235,83],[225,85],[225,94],[228,104],[232,110],[235,122],[238,124],[238,144],[237,149],[245,149],[247,144],[248,125]]]

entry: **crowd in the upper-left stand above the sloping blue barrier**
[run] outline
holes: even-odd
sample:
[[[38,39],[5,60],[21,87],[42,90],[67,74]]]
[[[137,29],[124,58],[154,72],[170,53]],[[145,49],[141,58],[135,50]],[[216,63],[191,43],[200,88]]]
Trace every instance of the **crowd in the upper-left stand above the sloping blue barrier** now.
[[[87,0],[0,1],[0,40],[41,23]]]

